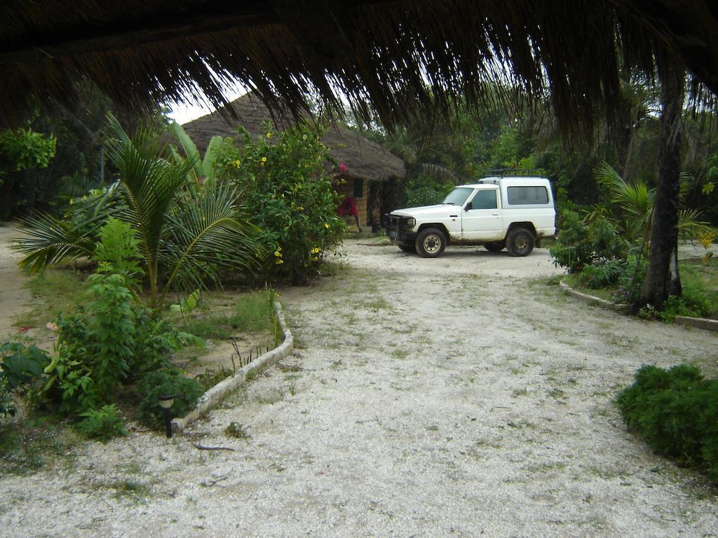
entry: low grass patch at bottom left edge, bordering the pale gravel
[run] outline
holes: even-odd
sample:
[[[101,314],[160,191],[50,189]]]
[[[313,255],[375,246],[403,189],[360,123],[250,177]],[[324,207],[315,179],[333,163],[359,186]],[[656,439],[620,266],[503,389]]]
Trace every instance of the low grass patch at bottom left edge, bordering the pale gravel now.
[[[68,462],[79,438],[64,423],[52,419],[30,419],[0,427],[0,475],[25,476],[42,468]]]

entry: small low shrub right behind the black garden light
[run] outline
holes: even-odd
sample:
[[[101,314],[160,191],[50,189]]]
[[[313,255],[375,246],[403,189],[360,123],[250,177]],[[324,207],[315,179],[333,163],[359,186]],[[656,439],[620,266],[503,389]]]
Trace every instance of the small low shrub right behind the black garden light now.
[[[202,385],[196,379],[182,375],[178,369],[163,369],[146,374],[137,384],[141,397],[137,412],[140,420],[150,428],[162,429],[164,412],[159,407],[159,397],[174,395],[172,416],[184,417],[197,405],[202,393]]]

